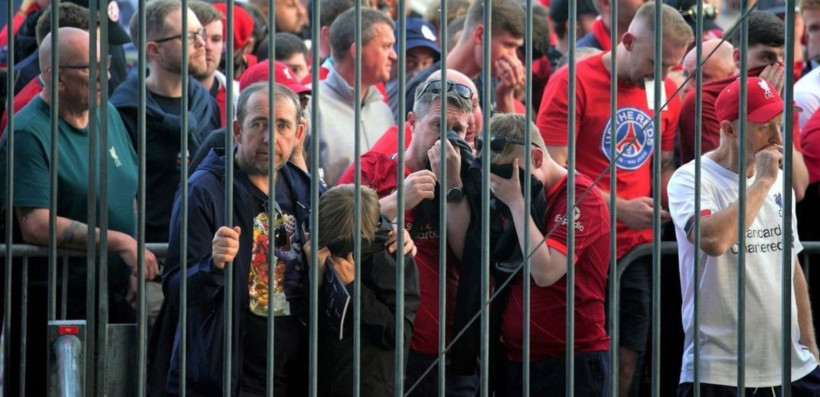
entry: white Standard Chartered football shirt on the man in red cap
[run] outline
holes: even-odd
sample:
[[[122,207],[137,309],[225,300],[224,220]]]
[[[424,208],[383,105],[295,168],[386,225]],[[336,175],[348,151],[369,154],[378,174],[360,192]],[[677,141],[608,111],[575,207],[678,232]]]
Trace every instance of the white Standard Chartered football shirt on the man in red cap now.
[[[707,156],[702,159],[701,216],[714,214],[738,200],[738,175]],[[782,171],[745,236],[745,386],[781,384],[781,255],[783,250]],[[747,187],[754,182],[748,178]],[[675,223],[681,269],[681,316],[684,341],[681,383],[694,381],[695,246],[686,238],[695,216],[695,161],[677,169],[668,185],[669,209]],[[791,259],[803,246],[797,238],[792,201]],[[721,256],[703,251],[699,267],[700,381],[737,386],[737,252],[735,244]],[[791,379],[797,381],[818,366],[809,349],[799,345],[797,305],[791,294]]]

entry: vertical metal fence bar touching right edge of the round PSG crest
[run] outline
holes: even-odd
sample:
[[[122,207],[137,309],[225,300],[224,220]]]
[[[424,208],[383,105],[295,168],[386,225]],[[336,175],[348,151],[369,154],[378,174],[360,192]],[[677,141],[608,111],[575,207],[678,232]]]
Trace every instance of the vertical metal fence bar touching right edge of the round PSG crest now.
[[[653,154],[652,154],[652,396],[660,395],[661,387],[661,115],[663,107],[661,103],[665,98],[661,97],[662,89],[665,86],[663,79],[663,4],[655,3],[654,18],[654,134],[653,134]],[[636,370],[640,370],[636,368]]]

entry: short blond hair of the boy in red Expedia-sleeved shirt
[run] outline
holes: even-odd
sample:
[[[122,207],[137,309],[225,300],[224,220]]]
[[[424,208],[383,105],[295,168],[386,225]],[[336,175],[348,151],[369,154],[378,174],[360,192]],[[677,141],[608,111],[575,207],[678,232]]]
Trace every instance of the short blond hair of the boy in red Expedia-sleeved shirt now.
[[[539,147],[546,155],[547,150],[544,144],[544,138],[541,137],[538,127],[536,127],[532,121],[530,122],[529,130],[532,144]],[[499,113],[494,115],[490,119],[490,137],[513,138],[523,141],[526,137],[526,117],[516,113]],[[481,153],[479,153],[479,158],[484,156],[485,151],[489,151],[491,164],[508,164],[512,163],[513,159],[518,159],[523,162],[525,160],[524,149],[525,147],[523,145],[512,143],[504,145],[503,150],[498,153],[491,151],[490,145],[485,144],[481,149]],[[522,167],[523,166],[522,163]]]

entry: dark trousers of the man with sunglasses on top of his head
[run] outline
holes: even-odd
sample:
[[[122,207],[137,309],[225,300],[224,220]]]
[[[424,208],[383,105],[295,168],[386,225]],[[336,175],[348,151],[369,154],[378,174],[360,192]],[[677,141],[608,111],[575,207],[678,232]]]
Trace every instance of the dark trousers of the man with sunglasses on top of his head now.
[[[437,396],[439,395],[439,368],[438,365],[430,369],[424,378],[421,378],[427,368],[435,362],[438,356],[419,353],[415,350],[410,350],[408,354],[407,367],[404,368],[404,392],[413,385],[418,385],[412,390],[410,394],[413,397],[419,396]],[[478,373],[473,375],[456,375],[449,371],[449,359],[444,358],[444,389],[445,395],[448,397],[475,397],[478,393]]]

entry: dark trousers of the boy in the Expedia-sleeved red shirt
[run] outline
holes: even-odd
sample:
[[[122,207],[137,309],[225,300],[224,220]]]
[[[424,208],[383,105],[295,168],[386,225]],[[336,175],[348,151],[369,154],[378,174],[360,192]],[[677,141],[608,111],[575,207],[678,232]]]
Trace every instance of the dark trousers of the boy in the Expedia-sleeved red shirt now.
[[[545,359],[530,363],[530,395],[566,395],[567,359]],[[524,364],[500,360],[496,396],[520,396],[523,393]],[[575,395],[601,397],[609,395],[609,352],[575,355]]]

